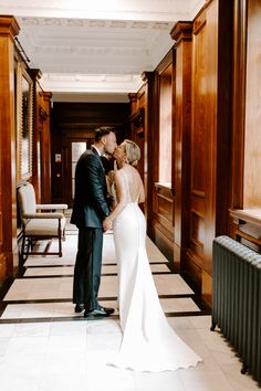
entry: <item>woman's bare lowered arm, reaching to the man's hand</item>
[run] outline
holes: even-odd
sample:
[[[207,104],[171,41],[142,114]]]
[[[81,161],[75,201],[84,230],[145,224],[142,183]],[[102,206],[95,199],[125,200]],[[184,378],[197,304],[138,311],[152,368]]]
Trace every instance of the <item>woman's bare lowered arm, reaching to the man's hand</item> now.
[[[111,212],[109,215],[103,221],[103,228],[105,231],[111,228],[111,223],[114,221],[114,219],[116,219],[116,216],[122,212],[127,203],[126,184],[124,183],[124,178],[119,170],[115,172],[115,184],[117,189],[118,203],[113,212]]]

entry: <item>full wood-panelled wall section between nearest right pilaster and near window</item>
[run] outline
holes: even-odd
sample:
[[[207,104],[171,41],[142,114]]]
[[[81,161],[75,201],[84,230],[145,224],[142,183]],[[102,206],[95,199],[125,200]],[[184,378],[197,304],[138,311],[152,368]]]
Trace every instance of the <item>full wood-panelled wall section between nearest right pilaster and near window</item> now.
[[[190,239],[186,270],[211,302],[212,240],[229,232],[232,6],[211,1],[194,22]]]

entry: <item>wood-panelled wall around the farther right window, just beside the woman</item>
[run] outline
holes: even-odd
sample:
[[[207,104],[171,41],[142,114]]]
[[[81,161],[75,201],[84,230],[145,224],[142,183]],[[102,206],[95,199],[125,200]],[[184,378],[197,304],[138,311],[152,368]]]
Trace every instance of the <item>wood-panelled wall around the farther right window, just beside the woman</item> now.
[[[144,85],[137,94],[129,95],[132,139],[139,145],[143,155],[138,170],[144,178],[146,190],[147,232],[169,260],[173,260],[174,251],[174,200],[171,186],[166,187],[166,184],[159,183],[159,77],[165,70],[168,70],[168,78],[170,74],[173,76],[173,66],[171,51],[161,61],[157,71],[144,73]],[[168,94],[168,98],[170,102],[168,102],[167,115],[171,117],[171,94]],[[164,112],[164,109],[163,105],[161,110]],[[165,140],[165,142],[167,141]]]

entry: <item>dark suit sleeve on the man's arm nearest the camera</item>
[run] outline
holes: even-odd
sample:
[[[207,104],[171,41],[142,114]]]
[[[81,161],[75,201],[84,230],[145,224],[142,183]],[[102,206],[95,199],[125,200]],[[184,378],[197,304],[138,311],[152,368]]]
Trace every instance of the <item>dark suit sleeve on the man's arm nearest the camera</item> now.
[[[104,194],[104,186],[106,189],[106,182],[102,163],[98,161],[98,158],[93,155],[88,156],[86,162],[87,183],[93,196],[96,211],[101,216],[106,218],[109,210]]]

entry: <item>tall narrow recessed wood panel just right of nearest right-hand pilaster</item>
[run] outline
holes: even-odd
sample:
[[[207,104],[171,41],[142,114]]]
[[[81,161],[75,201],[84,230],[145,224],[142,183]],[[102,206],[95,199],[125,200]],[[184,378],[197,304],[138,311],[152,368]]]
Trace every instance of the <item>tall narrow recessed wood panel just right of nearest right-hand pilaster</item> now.
[[[205,245],[205,211],[208,170],[206,14],[194,29],[192,126],[189,262],[201,266]]]

